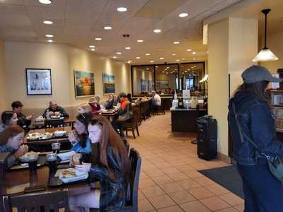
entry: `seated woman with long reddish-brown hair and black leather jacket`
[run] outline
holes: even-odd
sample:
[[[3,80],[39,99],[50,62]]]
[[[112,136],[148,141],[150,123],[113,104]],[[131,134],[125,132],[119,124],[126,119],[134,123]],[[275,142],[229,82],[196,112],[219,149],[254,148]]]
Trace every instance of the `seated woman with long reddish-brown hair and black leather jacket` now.
[[[91,190],[69,198],[71,211],[81,207],[100,208],[100,211],[115,211],[124,208],[126,187],[129,182],[129,159],[124,143],[112,128],[107,118],[95,115],[88,125],[91,153],[96,160],[76,165],[76,169],[90,172],[100,180],[100,189]],[[97,145],[98,144],[98,145]],[[98,151],[96,148],[98,147]]]

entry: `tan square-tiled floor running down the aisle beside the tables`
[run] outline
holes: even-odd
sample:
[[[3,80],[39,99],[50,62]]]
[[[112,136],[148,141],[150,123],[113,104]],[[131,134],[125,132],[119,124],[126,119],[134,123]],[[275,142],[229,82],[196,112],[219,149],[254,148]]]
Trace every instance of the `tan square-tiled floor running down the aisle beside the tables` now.
[[[139,211],[243,211],[243,199],[197,172],[226,164],[197,158],[193,135],[173,136],[170,124],[167,112],[142,122],[137,139],[129,133],[142,157]]]

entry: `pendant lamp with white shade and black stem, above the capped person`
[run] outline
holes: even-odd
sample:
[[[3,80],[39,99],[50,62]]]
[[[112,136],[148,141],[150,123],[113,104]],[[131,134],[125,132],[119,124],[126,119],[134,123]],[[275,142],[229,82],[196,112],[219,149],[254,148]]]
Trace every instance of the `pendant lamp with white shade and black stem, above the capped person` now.
[[[265,47],[255,56],[253,59],[254,62],[258,61],[275,61],[278,60],[275,54],[273,54],[270,49],[266,46],[266,34],[267,34],[267,14],[271,11],[271,9],[264,9],[261,12],[265,14]]]

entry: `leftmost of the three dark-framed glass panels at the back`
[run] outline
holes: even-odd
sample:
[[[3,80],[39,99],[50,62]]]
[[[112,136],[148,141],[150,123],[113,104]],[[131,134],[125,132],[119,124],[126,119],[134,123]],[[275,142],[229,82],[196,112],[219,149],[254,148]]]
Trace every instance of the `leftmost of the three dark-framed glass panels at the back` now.
[[[133,95],[150,95],[151,90],[154,90],[154,66],[133,66]]]

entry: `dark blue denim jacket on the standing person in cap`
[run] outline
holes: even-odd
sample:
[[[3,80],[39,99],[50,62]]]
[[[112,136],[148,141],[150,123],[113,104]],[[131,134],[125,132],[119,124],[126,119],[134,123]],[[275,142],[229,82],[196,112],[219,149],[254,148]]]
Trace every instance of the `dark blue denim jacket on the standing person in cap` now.
[[[243,142],[241,141],[233,113],[233,103],[241,129],[258,145],[260,153],[245,137]],[[266,100],[246,91],[238,91],[229,102],[228,120],[233,139],[233,158],[237,163],[255,165],[258,158],[265,157],[261,153],[283,156],[283,143],[276,137],[275,119]]]

